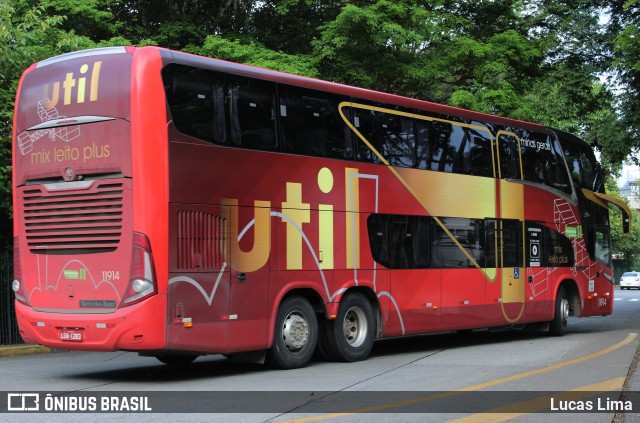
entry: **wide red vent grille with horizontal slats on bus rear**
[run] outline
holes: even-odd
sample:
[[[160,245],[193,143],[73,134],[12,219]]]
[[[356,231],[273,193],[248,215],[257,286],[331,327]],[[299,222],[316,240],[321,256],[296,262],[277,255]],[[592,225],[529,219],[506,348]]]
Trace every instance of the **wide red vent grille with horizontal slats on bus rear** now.
[[[27,245],[39,254],[115,251],[122,235],[122,183],[91,190],[24,191]]]

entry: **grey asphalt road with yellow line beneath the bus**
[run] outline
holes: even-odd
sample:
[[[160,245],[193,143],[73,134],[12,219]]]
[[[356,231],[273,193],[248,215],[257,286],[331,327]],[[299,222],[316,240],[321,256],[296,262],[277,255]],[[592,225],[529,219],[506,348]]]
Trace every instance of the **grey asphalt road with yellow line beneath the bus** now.
[[[96,411],[103,397],[120,395],[128,398],[129,409],[133,398],[142,398],[136,404],[152,411],[34,414],[2,410],[0,419],[640,421],[640,397],[636,398],[640,377],[634,364],[640,340],[640,291],[617,290],[615,301],[612,316],[572,318],[568,333],[559,338],[512,330],[391,339],[378,341],[363,362],[314,361],[289,371],[233,363],[217,355],[200,357],[184,368],[129,352],[3,357],[3,395],[38,392],[44,407],[50,393],[49,405],[59,409],[73,406],[61,398],[74,397],[75,406],[81,408],[95,401]],[[107,409],[127,409],[122,403],[106,401]],[[0,398],[0,404],[6,407],[6,399]],[[591,410],[579,410],[589,406]],[[621,407],[632,410],[616,413]]]

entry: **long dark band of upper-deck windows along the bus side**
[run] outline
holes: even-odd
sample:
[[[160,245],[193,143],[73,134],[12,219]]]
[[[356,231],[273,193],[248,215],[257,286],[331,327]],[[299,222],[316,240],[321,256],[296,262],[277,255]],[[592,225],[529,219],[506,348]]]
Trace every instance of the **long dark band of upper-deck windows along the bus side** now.
[[[166,66],[163,78],[176,128],[201,140],[437,172],[499,175],[572,192],[560,145],[547,133],[186,65]],[[498,163],[500,169],[495,169]],[[587,164],[581,162],[579,169],[584,171]]]

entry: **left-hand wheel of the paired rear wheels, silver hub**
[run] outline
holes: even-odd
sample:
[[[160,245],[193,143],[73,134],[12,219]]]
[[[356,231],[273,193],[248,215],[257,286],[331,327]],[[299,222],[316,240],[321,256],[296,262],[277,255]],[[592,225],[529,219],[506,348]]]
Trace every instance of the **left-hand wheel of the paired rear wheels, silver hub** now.
[[[285,298],[278,308],[269,363],[278,369],[304,367],[316,348],[318,320],[311,304],[302,297]]]

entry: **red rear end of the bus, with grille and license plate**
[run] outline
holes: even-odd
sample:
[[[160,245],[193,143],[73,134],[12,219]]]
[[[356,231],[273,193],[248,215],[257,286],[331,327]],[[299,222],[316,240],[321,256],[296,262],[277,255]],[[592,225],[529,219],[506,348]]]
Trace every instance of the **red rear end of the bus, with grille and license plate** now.
[[[26,342],[99,351],[165,345],[166,288],[158,286],[154,258],[154,247],[163,247],[151,235],[162,229],[148,217],[163,213],[140,204],[148,194],[135,184],[148,163],[132,165],[142,154],[132,143],[141,132],[132,124],[141,113],[132,112],[140,97],[134,89],[142,90],[132,82],[142,66],[135,52],[54,57],[20,81],[13,290]]]

